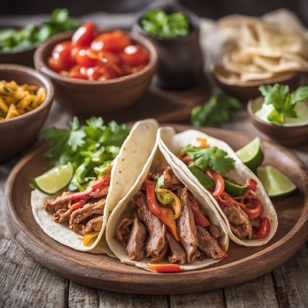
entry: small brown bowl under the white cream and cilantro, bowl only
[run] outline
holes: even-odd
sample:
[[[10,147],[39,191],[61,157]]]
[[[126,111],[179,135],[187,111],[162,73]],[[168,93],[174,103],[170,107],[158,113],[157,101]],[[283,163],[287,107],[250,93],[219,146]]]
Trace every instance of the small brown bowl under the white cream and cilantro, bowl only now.
[[[280,126],[266,123],[258,119],[254,113],[261,108],[263,100],[261,97],[250,99],[247,104],[249,119],[252,124],[264,132],[275,142],[287,147],[295,147],[308,142],[308,124],[301,126]]]

